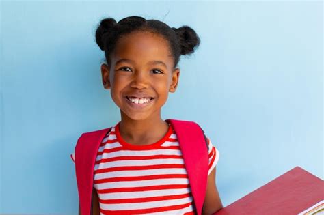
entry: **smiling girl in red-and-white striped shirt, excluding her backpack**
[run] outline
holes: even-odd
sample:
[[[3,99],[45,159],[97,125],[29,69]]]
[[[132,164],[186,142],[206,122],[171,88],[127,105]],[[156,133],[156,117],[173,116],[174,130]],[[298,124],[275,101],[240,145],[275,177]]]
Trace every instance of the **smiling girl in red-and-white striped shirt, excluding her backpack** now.
[[[101,65],[103,87],[110,89],[121,120],[98,149],[92,212],[195,214],[176,133],[161,119],[161,108],[169,92],[176,91],[180,55],[193,53],[200,38],[188,26],[171,28],[159,20],[129,16],[118,23],[101,20],[96,42],[107,60]],[[215,184],[219,151],[209,139],[208,145],[202,214],[223,207]],[[71,158],[75,161],[74,153]]]

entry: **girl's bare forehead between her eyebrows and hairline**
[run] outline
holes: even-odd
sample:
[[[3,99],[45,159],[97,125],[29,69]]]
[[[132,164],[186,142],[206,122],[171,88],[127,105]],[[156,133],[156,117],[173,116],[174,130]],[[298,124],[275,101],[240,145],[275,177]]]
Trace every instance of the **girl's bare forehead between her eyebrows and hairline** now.
[[[163,61],[168,67],[173,63],[167,40],[161,35],[142,31],[124,35],[118,40],[112,61],[120,59],[131,59],[135,63]]]

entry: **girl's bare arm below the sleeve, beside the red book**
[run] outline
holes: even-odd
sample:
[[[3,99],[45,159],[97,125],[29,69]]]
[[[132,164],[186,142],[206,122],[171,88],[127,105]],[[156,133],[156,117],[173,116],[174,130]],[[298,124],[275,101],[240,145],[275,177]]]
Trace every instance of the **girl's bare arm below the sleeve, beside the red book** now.
[[[215,182],[215,175],[216,167],[214,167],[213,171],[208,175],[206,197],[202,207],[202,215],[211,215],[223,208]]]

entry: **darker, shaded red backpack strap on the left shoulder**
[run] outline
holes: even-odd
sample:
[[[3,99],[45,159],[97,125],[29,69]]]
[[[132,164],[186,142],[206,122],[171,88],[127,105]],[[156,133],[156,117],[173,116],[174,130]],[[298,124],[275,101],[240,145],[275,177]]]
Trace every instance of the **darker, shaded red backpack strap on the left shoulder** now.
[[[81,214],[83,215],[92,213],[91,198],[94,183],[94,164],[100,143],[103,141],[105,134],[110,130],[111,127],[83,133],[75,146],[75,171],[77,175],[79,203]]]

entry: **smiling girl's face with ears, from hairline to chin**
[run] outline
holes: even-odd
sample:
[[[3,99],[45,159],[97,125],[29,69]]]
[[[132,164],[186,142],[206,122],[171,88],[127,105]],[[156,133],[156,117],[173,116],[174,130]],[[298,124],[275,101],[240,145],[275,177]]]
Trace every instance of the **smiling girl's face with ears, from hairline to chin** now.
[[[169,44],[162,36],[136,31],[120,38],[111,65],[101,65],[103,85],[120,108],[122,119],[161,120],[161,107],[176,91],[180,70],[174,69]],[[153,98],[133,104],[129,97]],[[144,100],[145,101],[145,100]]]

